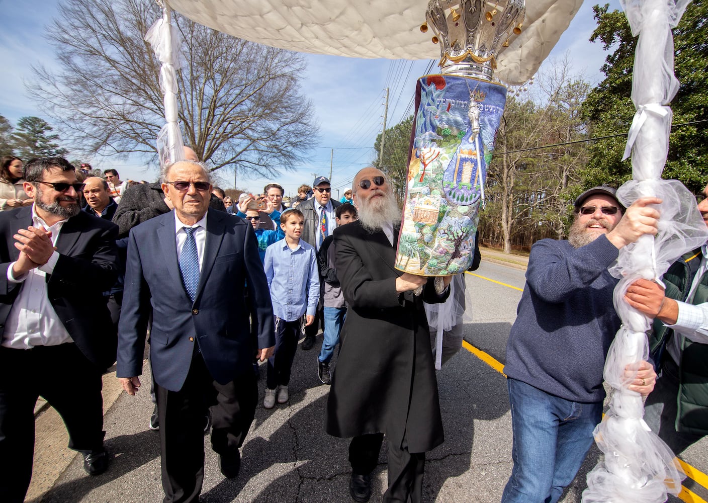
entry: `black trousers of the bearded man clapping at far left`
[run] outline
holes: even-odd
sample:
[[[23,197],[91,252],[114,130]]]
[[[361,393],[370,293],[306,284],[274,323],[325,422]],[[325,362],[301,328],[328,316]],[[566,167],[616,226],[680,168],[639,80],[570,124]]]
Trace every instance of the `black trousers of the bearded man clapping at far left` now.
[[[35,446],[34,409],[44,397],[64,419],[69,448],[103,446],[103,369],[74,343],[33,349],[0,347],[0,500],[22,503]]]

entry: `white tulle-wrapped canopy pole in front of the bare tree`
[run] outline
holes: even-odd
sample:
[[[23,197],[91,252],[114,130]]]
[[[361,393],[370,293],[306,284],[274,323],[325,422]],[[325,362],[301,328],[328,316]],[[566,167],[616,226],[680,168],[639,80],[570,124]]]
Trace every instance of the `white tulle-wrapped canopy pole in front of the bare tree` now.
[[[156,147],[162,169],[170,162],[184,160],[184,142],[178,123],[177,101],[179,93],[177,70],[182,67],[182,38],[172,25],[170,6],[167,1],[160,0],[158,3],[162,7],[163,16],[147,30],[145,40],[152,45],[152,50],[161,62],[160,88],[163,94],[166,124],[157,135]]]

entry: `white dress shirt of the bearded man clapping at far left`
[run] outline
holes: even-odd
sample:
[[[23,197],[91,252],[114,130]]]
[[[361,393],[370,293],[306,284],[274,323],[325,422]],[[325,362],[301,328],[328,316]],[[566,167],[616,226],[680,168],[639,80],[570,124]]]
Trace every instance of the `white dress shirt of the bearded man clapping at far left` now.
[[[59,220],[51,227],[38,217],[35,206],[32,205],[32,225],[44,227],[52,232],[52,244],[56,246],[59,232],[66,220]],[[31,349],[35,346],[57,346],[65,342],[73,342],[64,324],[59,320],[47,295],[47,273],[54,272],[59,260],[59,252],[55,250],[47,264],[31,269],[23,276],[15,278],[12,273],[12,262],[7,268],[8,283],[25,283],[13,303],[5,322],[5,332],[2,345],[12,349]]]

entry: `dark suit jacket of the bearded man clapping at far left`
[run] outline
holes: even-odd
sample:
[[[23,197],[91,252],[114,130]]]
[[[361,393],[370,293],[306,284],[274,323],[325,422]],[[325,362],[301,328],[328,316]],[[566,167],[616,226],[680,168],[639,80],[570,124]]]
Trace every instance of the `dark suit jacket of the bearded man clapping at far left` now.
[[[32,206],[0,213],[0,331],[24,283],[8,283],[7,269],[20,252],[13,235],[32,225]],[[62,226],[59,260],[47,274],[47,294],[81,352],[100,368],[115,361],[116,335],[103,292],[118,277],[118,226],[81,211]]]

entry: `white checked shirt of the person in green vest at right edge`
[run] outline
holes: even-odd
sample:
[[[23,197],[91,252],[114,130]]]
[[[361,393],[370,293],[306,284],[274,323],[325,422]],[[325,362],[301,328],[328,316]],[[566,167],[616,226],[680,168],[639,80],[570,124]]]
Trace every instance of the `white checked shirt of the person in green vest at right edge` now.
[[[693,283],[691,283],[691,289],[686,298],[686,302],[681,302],[680,300],[676,301],[676,303],[678,303],[676,323],[666,326],[691,341],[708,344],[708,303],[699,305],[690,304],[701,281],[701,277],[708,271],[708,260],[706,259],[708,244],[704,244],[701,247],[701,252],[703,254],[701,264],[698,266],[698,271],[696,271],[696,276],[693,278]],[[679,363],[681,361],[680,337],[673,337],[669,344],[667,344],[666,350],[668,354],[671,355],[671,358],[673,358],[676,363]]]

